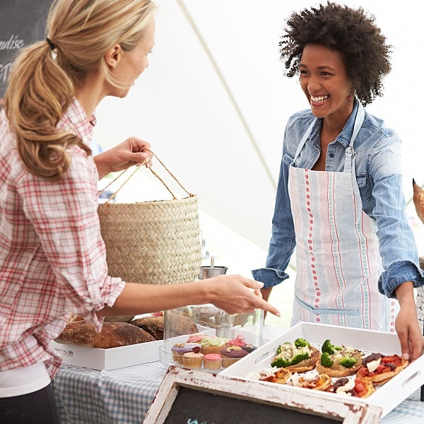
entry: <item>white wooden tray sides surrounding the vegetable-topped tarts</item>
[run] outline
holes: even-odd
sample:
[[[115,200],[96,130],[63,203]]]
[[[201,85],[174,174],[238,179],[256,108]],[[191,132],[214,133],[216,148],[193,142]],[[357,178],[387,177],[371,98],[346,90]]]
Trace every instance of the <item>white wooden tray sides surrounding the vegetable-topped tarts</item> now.
[[[278,346],[286,341],[295,341],[296,338],[305,338],[313,345],[321,345],[327,338],[335,345],[345,345],[358,348],[365,353],[379,352],[384,355],[401,355],[401,346],[396,334],[383,333],[380,331],[371,331],[363,329],[351,329],[341,326],[329,326],[323,324],[312,324],[300,322],[291,329],[281,329],[281,335],[265,343],[264,346],[256,351],[249,353],[234,365],[220,372],[220,375],[230,377],[245,378],[247,372],[259,371],[268,367],[276,357]],[[249,380],[256,381],[256,380]],[[258,384],[275,384],[271,382],[258,382]],[[369,405],[375,405],[382,408],[382,416],[387,415],[392,409],[396,408],[413,391],[416,391],[424,384],[424,356],[418,358],[389,382],[376,389],[375,393],[366,399],[359,399]],[[282,384],[281,386],[286,386]],[[300,391],[305,394],[309,389],[301,387],[290,387],[293,391]],[[338,397],[340,401],[346,400],[346,396],[323,393],[324,396]]]

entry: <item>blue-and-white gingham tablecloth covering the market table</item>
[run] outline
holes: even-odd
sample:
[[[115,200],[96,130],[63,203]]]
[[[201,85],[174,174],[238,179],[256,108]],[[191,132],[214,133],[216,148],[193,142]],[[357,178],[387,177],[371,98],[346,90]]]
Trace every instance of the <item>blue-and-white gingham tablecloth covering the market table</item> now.
[[[98,371],[61,365],[54,394],[62,424],[141,424],[167,371],[160,362]],[[424,402],[416,391],[381,420],[423,424]]]

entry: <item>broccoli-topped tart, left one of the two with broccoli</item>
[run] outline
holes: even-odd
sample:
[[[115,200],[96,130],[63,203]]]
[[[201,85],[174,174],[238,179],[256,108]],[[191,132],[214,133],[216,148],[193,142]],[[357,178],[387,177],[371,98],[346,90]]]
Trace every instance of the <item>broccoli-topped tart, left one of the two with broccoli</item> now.
[[[286,341],[278,346],[276,358],[271,367],[288,368],[291,372],[306,372],[313,370],[321,353],[304,338],[294,342]]]

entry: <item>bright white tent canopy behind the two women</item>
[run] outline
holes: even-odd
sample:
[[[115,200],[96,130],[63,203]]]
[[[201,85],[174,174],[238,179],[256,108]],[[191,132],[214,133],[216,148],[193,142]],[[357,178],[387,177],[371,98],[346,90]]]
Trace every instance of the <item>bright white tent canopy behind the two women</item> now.
[[[296,78],[283,76],[278,41],[291,11],[316,3],[283,0],[157,0],[149,68],[124,100],[98,107],[95,138],[152,143],[199,206],[261,251],[268,247],[283,130],[307,107]],[[404,187],[424,183],[420,1],[346,0],[376,16],[394,46],[384,97],[367,107],[404,141]],[[408,13],[406,13],[406,10]],[[413,66],[411,66],[413,64]],[[143,190],[143,187],[140,187]],[[225,243],[225,240],[221,240]],[[264,265],[264,254],[249,267]]]

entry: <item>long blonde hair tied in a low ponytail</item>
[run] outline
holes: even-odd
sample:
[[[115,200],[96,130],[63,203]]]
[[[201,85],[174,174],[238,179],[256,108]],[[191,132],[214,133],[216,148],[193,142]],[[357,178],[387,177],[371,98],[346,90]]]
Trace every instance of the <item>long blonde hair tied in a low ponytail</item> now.
[[[47,41],[25,47],[13,63],[4,110],[16,134],[18,152],[30,172],[60,179],[71,163],[66,152],[76,134],[57,129],[88,73],[100,71],[113,86],[105,53],[116,44],[131,51],[143,38],[155,10],[151,0],[54,0]],[[50,41],[51,40],[51,41]]]

